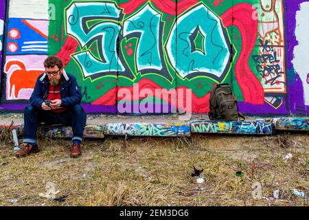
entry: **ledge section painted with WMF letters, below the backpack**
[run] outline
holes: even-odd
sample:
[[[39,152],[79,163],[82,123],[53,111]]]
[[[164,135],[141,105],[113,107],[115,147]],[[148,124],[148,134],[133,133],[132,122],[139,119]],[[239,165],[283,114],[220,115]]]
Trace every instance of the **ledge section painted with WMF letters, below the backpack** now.
[[[192,133],[233,133],[249,135],[272,135],[273,124],[262,121],[225,122],[211,120],[191,121]]]

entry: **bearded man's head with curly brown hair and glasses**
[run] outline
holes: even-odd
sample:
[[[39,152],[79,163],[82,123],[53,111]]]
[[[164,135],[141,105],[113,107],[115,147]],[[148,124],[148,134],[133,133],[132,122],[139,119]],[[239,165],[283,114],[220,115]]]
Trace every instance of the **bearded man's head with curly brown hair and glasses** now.
[[[58,85],[63,72],[62,61],[56,56],[49,56],[44,61],[45,73],[51,85]]]

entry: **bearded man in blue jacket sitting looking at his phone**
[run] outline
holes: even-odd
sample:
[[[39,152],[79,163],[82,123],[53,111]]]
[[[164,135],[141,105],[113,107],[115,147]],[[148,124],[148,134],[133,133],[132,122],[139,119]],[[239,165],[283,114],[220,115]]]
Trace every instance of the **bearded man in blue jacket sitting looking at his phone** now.
[[[71,157],[79,157],[82,154],[80,144],[87,116],[80,106],[82,94],[76,78],[65,72],[62,61],[56,56],[49,56],[44,61],[44,67],[45,73],[38,76],[30,97],[31,104],[25,107],[25,147],[16,156],[24,157],[40,151],[36,143],[36,128],[38,123],[45,122],[72,126]]]

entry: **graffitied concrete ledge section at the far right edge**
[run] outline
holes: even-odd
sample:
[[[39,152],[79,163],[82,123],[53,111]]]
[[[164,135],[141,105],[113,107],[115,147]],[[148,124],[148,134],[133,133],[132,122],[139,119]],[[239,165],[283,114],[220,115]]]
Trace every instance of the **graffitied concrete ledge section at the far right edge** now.
[[[271,122],[278,131],[309,131],[309,118],[274,118]]]

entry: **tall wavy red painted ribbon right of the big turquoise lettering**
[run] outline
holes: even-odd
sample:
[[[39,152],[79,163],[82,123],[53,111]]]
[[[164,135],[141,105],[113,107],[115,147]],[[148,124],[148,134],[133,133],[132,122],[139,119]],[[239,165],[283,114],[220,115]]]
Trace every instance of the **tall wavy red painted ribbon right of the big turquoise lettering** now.
[[[222,14],[221,19],[225,27],[235,25],[242,36],[242,50],[235,65],[235,74],[244,102],[264,104],[264,89],[249,67],[249,57],[255,45],[258,30],[258,20],[252,19],[254,10],[248,3],[240,3]]]

